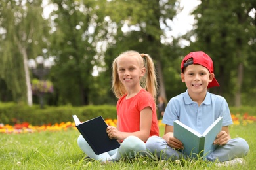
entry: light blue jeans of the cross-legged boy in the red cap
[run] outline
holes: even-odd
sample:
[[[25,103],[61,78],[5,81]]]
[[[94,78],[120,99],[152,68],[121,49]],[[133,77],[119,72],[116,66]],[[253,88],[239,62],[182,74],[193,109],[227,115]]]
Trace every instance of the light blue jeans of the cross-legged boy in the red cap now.
[[[162,137],[152,136],[146,142],[146,149],[152,154],[156,154],[161,160],[171,160],[187,158],[182,152],[177,151],[167,145],[167,141]],[[234,158],[242,158],[249,152],[249,145],[242,138],[230,139],[223,146],[218,146],[209,156],[208,161],[229,161]]]

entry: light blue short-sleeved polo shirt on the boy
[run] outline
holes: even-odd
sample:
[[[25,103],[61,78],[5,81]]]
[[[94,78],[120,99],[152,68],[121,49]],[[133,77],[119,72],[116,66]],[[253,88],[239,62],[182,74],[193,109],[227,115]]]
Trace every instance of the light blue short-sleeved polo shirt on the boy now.
[[[202,134],[219,116],[223,117],[223,126],[233,123],[224,97],[207,92],[205,100],[198,106],[186,90],[171,98],[165,108],[162,122],[173,126],[173,121],[179,120]]]

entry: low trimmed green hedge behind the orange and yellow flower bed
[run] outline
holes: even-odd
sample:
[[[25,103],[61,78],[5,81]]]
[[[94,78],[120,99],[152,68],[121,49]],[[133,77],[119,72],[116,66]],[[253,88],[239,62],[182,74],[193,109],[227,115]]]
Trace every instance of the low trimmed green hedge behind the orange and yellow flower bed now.
[[[256,116],[256,107],[230,107],[232,114],[248,113]],[[40,109],[39,105],[29,107],[25,104],[0,103],[0,123],[16,124],[29,122],[32,125],[54,124],[60,122],[73,122],[72,115],[76,114],[81,121],[103,116],[104,119],[114,119],[116,106],[114,105],[88,105],[72,107],[70,105],[60,107],[45,106]]]

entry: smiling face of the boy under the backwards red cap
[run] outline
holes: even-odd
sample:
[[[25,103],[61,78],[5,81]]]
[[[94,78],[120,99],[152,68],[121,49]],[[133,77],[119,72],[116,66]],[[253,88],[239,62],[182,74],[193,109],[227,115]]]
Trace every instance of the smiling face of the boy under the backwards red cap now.
[[[214,73],[209,73],[206,67],[198,64],[188,65],[181,73],[181,80],[191,92],[205,92],[209,82],[214,78]]]

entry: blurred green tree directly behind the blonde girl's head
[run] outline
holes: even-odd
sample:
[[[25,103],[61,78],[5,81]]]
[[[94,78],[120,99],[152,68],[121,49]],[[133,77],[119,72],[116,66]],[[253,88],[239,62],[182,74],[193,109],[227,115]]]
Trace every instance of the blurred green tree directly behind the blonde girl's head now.
[[[111,34],[114,41],[108,44],[106,52],[108,67],[111,68],[113,59],[125,50],[150,54],[156,62],[159,94],[166,97],[162,64],[169,56],[165,56],[162,49],[169,45],[164,43],[165,31],[171,29],[169,22],[177,10],[179,2],[176,1],[108,1],[106,15],[112,22],[112,29],[108,30],[114,30]]]

